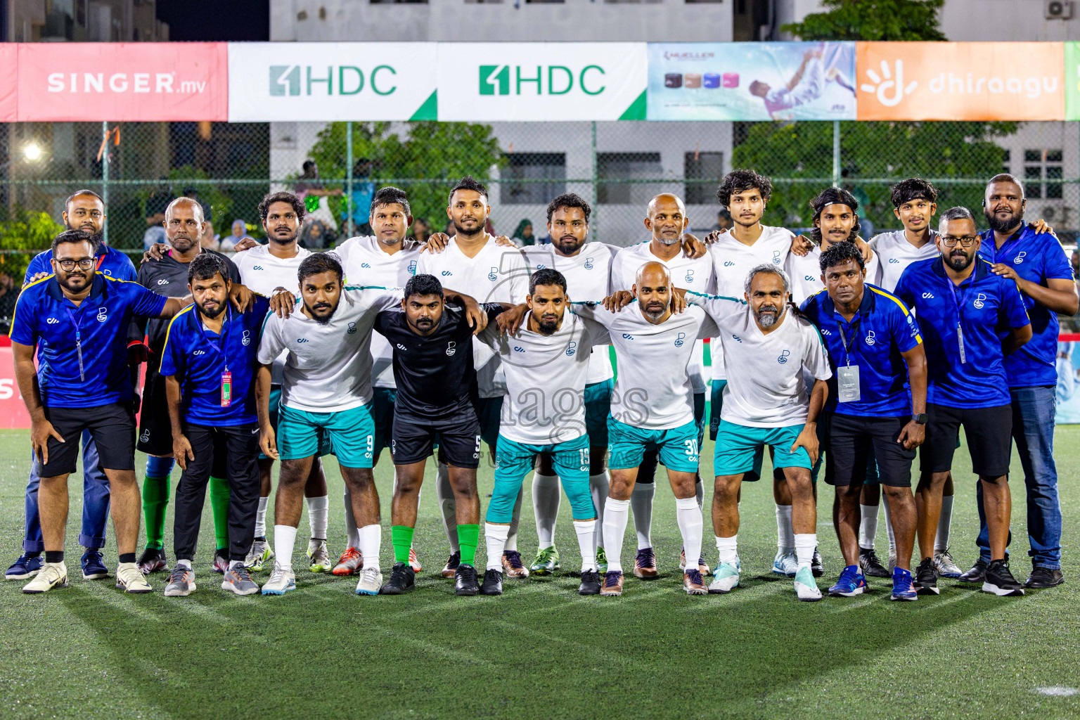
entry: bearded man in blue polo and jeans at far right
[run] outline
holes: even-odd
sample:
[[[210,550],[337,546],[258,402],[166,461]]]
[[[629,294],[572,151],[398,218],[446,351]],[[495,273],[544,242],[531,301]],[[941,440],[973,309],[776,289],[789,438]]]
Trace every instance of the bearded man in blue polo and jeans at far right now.
[[[983,213],[990,229],[981,236],[981,255],[991,272],[1011,280],[1031,318],[1031,341],[1005,357],[1012,400],[1012,436],[1027,486],[1027,533],[1032,571],[1025,587],[1062,584],[1062,508],[1054,465],[1054,385],[1057,381],[1057,315],[1078,310],[1072,268],[1053,235],[1037,235],[1024,225],[1024,187],[1012,175],[995,175],[986,186]],[[978,582],[989,561],[984,498],[978,495],[982,524],[978,561],[960,576]]]

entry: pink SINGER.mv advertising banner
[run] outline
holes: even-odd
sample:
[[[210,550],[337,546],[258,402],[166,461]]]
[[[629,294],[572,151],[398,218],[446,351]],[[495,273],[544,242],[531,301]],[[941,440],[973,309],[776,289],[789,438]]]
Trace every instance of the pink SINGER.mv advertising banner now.
[[[18,45],[21,121],[228,120],[224,42]]]

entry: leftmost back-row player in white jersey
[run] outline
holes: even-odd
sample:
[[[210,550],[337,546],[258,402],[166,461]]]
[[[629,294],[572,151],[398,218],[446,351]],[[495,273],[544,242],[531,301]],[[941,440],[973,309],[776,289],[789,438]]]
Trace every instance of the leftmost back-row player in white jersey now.
[[[300,286],[296,272],[300,262],[311,255],[297,244],[300,226],[303,225],[303,201],[292,192],[275,192],[262,199],[259,203],[259,217],[267,233],[267,244],[259,245],[254,240],[243,240],[237,244],[237,254],[232,258],[237,269],[240,270],[240,279],[244,285],[267,297],[279,290],[288,290],[296,295]],[[278,406],[281,399],[285,356],[286,354],[282,353],[271,369],[270,422],[274,427],[278,425]],[[328,451],[325,444],[322,449]],[[272,467],[273,458],[260,454],[261,487],[259,506],[255,515],[255,542],[252,543],[244,560],[244,566],[253,571],[262,570],[264,565],[273,557],[273,549],[267,542],[267,503],[270,501]],[[329,524],[329,498],[326,492],[326,474],[323,471],[322,460],[316,457],[303,487],[308,521],[311,526],[308,557],[311,559],[312,572],[325,572],[332,566],[329,549],[326,546],[326,528]]]

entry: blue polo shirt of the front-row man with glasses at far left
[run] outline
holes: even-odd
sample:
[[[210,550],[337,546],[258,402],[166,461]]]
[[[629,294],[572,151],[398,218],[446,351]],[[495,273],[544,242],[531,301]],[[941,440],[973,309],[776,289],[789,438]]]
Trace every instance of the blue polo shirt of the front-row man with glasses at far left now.
[[[24,287],[15,301],[11,339],[38,348],[42,405],[81,408],[134,399],[127,328],[135,315],[160,315],[166,300],[138,283],[100,272],[94,273],[90,295],[78,308],[64,297],[55,275]]]

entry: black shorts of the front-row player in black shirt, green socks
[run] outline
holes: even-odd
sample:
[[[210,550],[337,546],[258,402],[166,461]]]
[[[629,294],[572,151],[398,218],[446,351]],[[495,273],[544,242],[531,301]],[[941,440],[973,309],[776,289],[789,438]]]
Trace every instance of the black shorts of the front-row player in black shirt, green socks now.
[[[426,460],[438,443],[446,464],[455,467],[480,466],[480,422],[471,405],[437,420],[394,412],[390,453],[395,465],[411,465]]]

